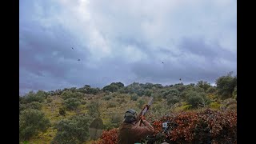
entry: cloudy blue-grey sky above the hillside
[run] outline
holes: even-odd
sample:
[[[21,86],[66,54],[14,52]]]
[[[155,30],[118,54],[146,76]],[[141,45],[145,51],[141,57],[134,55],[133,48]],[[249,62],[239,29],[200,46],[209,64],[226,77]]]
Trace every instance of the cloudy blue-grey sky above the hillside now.
[[[237,73],[235,0],[22,0],[19,8],[20,94]]]

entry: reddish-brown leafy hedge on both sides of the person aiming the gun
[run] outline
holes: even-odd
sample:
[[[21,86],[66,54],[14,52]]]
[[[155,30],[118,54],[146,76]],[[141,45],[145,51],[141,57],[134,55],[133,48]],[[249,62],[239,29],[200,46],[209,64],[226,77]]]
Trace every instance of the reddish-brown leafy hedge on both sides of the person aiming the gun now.
[[[167,128],[162,128],[162,123]],[[154,134],[142,143],[237,143],[237,113],[235,110],[202,110],[170,114],[152,122]],[[118,129],[105,130],[98,144],[118,140]]]

